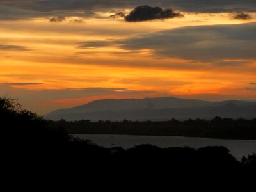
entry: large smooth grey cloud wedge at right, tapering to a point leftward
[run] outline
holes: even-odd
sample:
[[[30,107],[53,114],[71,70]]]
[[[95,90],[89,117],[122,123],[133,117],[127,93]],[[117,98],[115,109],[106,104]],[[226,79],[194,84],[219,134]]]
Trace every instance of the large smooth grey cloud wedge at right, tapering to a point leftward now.
[[[154,56],[195,61],[256,58],[256,24],[189,26],[118,42],[127,50],[150,49]]]

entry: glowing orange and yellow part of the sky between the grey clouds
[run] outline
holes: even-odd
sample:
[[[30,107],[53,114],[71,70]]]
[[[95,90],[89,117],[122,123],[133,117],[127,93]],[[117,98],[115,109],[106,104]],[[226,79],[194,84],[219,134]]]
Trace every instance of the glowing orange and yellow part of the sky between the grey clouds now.
[[[81,42],[118,42],[180,27],[253,23],[255,13],[250,20],[230,19],[228,13],[185,13],[182,18],[138,23],[111,19],[111,13],[97,14],[104,18],[79,23],[73,22],[75,17],[58,23],[47,17],[0,21],[0,95],[17,98],[40,114],[104,98],[177,95],[256,100],[255,60],[227,58],[223,62],[243,65],[223,66],[161,57],[147,47],[128,50],[115,43],[79,47]]]

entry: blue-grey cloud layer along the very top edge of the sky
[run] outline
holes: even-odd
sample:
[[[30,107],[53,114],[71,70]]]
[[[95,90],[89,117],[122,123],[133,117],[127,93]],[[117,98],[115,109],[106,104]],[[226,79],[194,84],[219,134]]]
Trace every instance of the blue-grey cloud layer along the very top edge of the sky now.
[[[219,13],[256,11],[255,0],[1,0],[0,19],[25,19],[51,15],[88,16],[92,12],[111,11],[115,8],[134,8],[140,5],[161,6],[183,12]],[[77,13],[72,11],[83,11]]]

